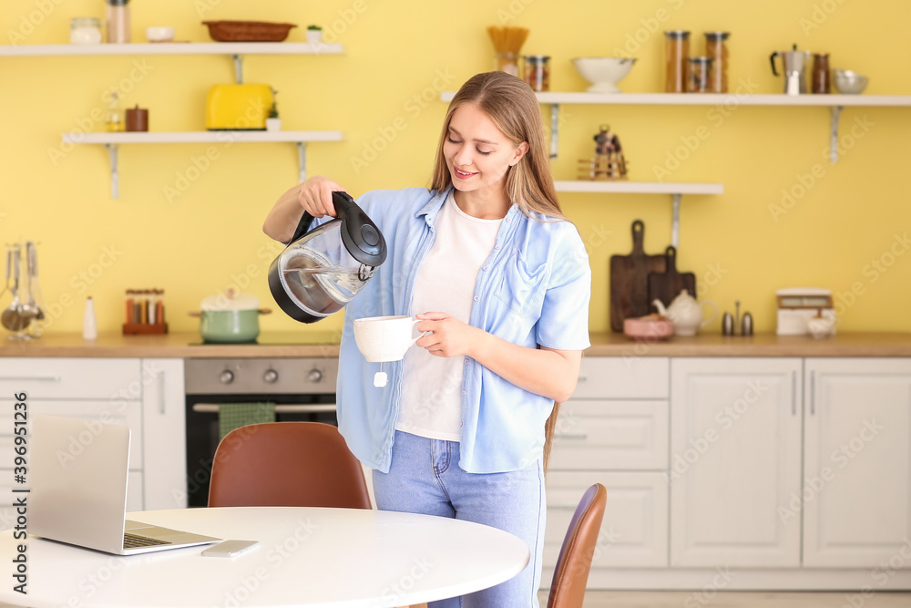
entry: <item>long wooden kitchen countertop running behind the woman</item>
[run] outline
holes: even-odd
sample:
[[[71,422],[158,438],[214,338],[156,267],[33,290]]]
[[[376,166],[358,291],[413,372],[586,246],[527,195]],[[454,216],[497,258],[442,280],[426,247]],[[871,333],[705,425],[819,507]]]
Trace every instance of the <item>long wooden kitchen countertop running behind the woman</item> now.
[[[46,334],[36,340],[5,340],[0,356],[228,358],[338,356],[337,332],[263,333],[261,344],[201,345],[200,335],[102,334],[94,341],[78,333]],[[587,356],[911,356],[911,333],[751,337],[704,334],[667,341],[633,341],[622,334],[591,335]]]

